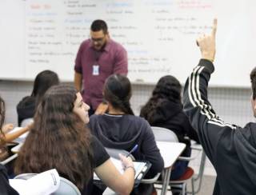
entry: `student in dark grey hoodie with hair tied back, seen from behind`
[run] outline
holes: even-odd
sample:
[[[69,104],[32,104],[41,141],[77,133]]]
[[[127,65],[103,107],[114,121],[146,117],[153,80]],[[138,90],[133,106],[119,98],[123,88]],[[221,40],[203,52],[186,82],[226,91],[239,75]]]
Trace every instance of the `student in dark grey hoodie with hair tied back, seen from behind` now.
[[[147,177],[161,173],[163,160],[154,140],[150,125],[142,117],[134,116],[130,108],[131,86],[126,76],[111,75],[106,79],[103,97],[108,103],[108,111],[90,117],[90,129],[105,147],[130,151],[137,160],[147,160],[152,164]],[[141,192],[142,193],[142,192]]]

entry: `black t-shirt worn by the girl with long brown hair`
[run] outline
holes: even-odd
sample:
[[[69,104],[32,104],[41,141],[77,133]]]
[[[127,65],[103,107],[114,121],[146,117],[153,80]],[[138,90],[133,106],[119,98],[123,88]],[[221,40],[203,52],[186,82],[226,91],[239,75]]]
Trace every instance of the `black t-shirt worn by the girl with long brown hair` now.
[[[102,165],[106,160],[110,158],[110,155],[106,153],[106,149],[100,141],[94,136],[92,136],[91,147],[94,153],[94,168],[97,168],[99,165]],[[94,184],[93,178],[89,181],[88,185],[82,190],[82,194],[90,195],[93,194]]]

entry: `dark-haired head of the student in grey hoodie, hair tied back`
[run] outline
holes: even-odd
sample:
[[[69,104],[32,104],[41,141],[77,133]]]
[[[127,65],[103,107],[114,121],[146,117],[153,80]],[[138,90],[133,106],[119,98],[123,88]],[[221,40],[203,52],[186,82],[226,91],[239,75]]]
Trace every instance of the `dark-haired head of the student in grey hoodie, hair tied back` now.
[[[134,112],[130,108],[131,85],[126,76],[113,74],[107,78],[103,96],[114,109],[134,115]]]

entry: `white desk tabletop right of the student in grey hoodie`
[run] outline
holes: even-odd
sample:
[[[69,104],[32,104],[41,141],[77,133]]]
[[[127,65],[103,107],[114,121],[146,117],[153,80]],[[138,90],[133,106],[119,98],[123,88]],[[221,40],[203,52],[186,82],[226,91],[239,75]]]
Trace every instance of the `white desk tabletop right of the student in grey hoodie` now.
[[[169,142],[169,141],[156,141],[158,149],[162,155],[163,161],[165,163],[165,169],[170,168],[174,165],[174,162],[181,155],[183,150],[186,148],[184,143],[179,142]]]

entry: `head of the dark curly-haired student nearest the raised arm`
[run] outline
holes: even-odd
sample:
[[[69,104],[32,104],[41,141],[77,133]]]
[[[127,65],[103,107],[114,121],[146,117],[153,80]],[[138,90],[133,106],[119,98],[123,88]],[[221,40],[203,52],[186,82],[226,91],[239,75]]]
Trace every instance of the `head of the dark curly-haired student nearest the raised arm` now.
[[[166,98],[169,101],[181,103],[182,86],[174,76],[166,75],[159,79],[154,87],[152,95],[158,98]]]

